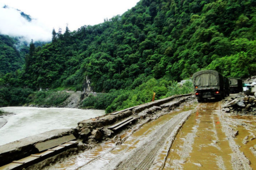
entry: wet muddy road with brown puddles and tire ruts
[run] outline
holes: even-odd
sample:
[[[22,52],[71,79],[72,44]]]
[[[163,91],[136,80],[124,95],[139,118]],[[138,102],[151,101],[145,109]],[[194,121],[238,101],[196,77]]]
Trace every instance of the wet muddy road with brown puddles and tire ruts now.
[[[253,170],[256,117],[190,102],[45,170]]]

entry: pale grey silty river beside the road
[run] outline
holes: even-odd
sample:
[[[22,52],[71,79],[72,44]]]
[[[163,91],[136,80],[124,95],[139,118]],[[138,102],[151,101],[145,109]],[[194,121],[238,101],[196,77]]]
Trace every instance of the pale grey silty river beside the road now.
[[[3,116],[0,145],[54,129],[73,128],[77,123],[105,114],[103,110],[73,108],[4,107],[1,111],[15,113]]]

